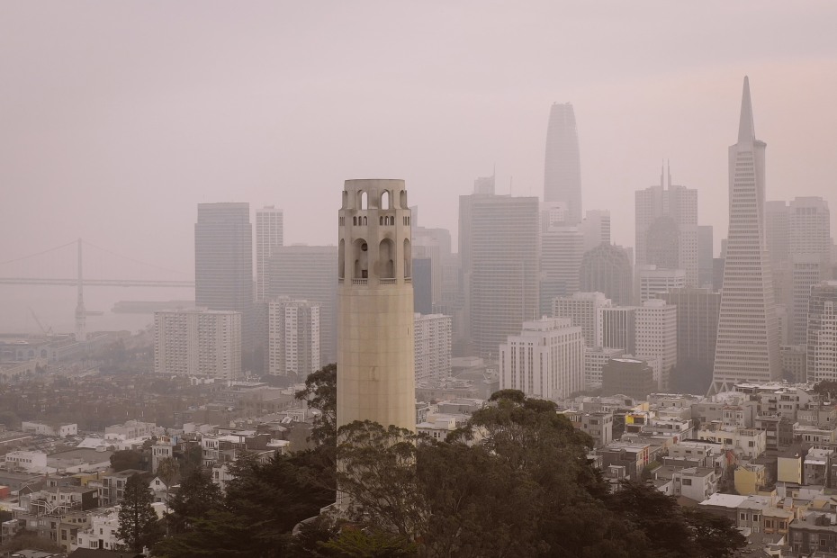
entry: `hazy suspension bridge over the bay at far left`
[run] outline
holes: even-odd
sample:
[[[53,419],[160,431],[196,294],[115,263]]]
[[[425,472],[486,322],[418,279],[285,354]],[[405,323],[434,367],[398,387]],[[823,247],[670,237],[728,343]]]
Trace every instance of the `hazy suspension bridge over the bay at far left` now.
[[[95,278],[85,276],[84,273],[85,264],[89,265],[84,255],[91,252],[98,256],[96,261],[100,263],[99,269],[93,274]],[[104,265],[102,262],[105,262]],[[114,273],[114,269],[119,271]],[[148,275],[150,269],[167,275],[184,275],[183,272],[148,264],[78,238],[57,247],[0,262],[0,285],[75,286],[76,340],[84,341],[88,313],[85,310],[85,286],[194,288],[194,281],[137,278]],[[111,278],[101,278],[99,274],[104,277],[110,275]]]

